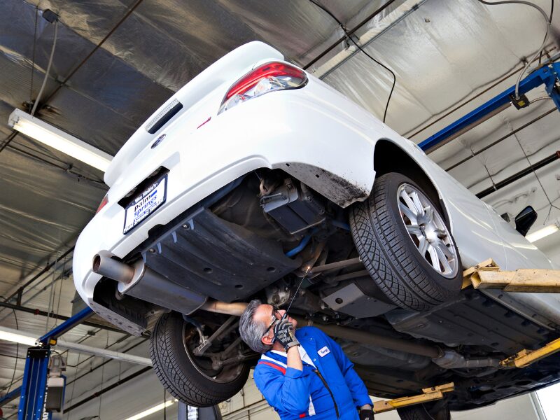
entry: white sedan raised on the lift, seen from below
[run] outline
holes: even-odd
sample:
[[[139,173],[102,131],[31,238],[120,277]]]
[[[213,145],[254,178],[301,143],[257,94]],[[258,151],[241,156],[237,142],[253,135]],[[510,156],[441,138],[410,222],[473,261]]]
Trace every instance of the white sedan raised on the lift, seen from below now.
[[[454,381],[403,419],[447,419],[556,381],[558,356],[499,360],[558,337],[552,294],[461,290],[463,268],[551,268],[524,235],[412,141],[269,45],[248,43],[153,113],[105,174],[81,233],[76,289],[100,316],[151,330],[162,384],[195,406],[244,385],[239,338],[260,298],[324,328],[372,395]],[[300,285],[296,292],[297,285]]]

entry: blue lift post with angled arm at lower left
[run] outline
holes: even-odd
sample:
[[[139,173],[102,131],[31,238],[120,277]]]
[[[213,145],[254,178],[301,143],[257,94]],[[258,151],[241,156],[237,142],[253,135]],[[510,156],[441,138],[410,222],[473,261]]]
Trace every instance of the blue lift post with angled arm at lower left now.
[[[18,420],[44,420],[50,419],[50,414],[45,413],[47,397],[47,374],[50,358],[50,346],[57,343],[57,338],[64,332],[71,330],[85,318],[92,316],[89,307],[69,318],[68,321],[58,325],[43,337],[38,339],[38,345],[27,350],[27,360],[23,372],[21,386],[20,406]]]

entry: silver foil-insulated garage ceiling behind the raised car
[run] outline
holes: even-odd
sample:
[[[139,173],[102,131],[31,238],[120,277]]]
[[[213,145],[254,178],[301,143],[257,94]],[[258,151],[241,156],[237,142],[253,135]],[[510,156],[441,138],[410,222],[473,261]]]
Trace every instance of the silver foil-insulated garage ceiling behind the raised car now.
[[[551,1],[534,2],[549,13]],[[538,49],[545,31],[540,14],[523,5],[485,6],[476,0],[320,3],[349,29],[381,10],[356,34],[372,38],[365,50],[395,72],[387,124],[416,142],[513,85],[525,57]],[[41,16],[41,10],[48,8],[60,20],[36,116],[111,155],[176,90],[248,41],[269,43],[300,66],[335,44],[309,71],[320,72],[326,83],[379,118],[391,88],[388,73],[362,53],[332,66],[332,59],[344,55],[348,45],[337,43],[342,30],[309,0],[0,2],[0,295],[10,297],[37,276],[23,291],[25,307],[71,314],[69,250],[106,192],[102,172],[8,127],[9,114],[15,108],[29,111],[43,83],[55,32],[54,25]],[[559,52],[560,10],[556,12],[546,46],[549,57]],[[528,96],[542,97],[544,90]],[[507,137],[550,109],[554,105],[547,100],[521,111],[512,107],[430,157],[447,169],[505,137],[450,171],[478,193],[560,150],[557,111]],[[538,227],[553,223],[560,210],[549,201],[560,208],[560,165],[540,169],[538,178],[528,175],[485,201],[500,214],[513,216],[533,204],[540,214]],[[558,239],[551,238],[554,235],[547,239],[546,250],[556,258]],[[0,308],[0,320],[16,327],[13,311]],[[38,335],[54,323],[18,312],[17,326]],[[65,339],[111,345],[118,351],[141,341],[87,325]],[[134,351],[145,356],[145,344]],[[25,357],[25,349],[19,354]],[[15,345],[0,342],[0,387],[10,386],[14,372],[18,385],[23,360],[14,371],[15,356]],[[71,353],[69,377],[99,363],[100,358],[78,360]],[[138,369],[123,363],[118,372]],[[87,384],[76,381],[73,402],[86,398],[96,386],[99,389],[102,381],[115,379],[116,370],[104,375],[102,371],[103,367],[90,374]]]

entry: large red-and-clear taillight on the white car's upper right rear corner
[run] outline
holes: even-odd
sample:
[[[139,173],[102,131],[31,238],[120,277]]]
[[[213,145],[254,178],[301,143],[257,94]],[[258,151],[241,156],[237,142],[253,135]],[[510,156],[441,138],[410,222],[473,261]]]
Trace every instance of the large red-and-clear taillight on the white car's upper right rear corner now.
[[[302,69],[281,62],[262,64],[230,87],[218,113],[265,93],[274,92],[274,90],[298,89],[305,83],[307,83],[307,76]]]

